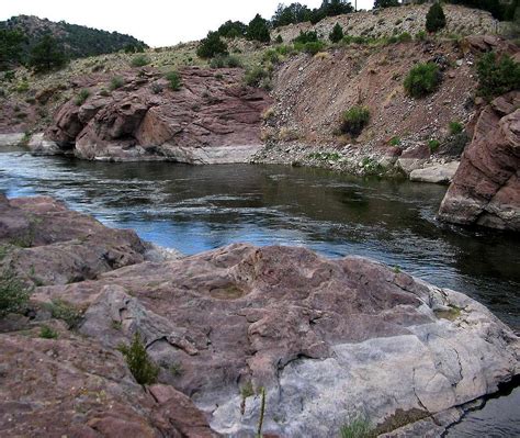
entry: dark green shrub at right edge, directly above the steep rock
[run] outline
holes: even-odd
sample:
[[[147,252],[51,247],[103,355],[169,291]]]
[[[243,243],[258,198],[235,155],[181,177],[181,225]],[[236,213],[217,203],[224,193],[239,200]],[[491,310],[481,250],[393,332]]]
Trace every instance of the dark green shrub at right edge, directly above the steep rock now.
[[[520,89],[520,64],[509,55],[500,58],[494,52],[477,63],[478,94],[490,100],[511,90]]]

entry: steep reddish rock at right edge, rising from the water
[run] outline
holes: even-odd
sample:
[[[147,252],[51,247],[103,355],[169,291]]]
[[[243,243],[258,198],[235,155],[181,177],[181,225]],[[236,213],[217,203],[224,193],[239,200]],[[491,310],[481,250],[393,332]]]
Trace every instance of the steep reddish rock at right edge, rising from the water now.
[[[472,143],[442,201],[446,222],[520,231],[520,92],[479,114]]]

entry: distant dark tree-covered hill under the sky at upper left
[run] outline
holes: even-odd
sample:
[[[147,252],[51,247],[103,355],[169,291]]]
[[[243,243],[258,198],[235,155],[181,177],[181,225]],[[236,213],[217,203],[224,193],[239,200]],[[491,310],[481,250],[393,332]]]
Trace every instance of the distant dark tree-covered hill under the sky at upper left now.
[[[55,23],[33,15],[13,16],[8,21],[0,22],[0,29],[18,29],[26,35],[26,53],[45,33],[50,33],[56,37],[70,58],[114,53],[124,49],[126,46],[147,47],[144,42],[129,35],[69,24],[65,21]]]

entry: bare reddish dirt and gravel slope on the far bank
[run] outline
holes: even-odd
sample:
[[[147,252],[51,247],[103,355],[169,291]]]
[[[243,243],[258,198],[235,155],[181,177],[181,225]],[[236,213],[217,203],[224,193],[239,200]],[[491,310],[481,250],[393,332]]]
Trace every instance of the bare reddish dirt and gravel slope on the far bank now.
[[[472,133],[453,136],[449,125],[465,125],[479,112],[475,64],[490,49],[515,53],[496,36],[472,36],[355,45],[291,58],[275,74],[276,103],[265,114],[263,132],[268,146],[256,160],[365,175],[410,173],[457,159]],[[404,79],[428,61],[439,66],[441,85],[426,98],[411,98]],[[369,124],[357,138],[339,131],[343,112],[353,105],[370,110]],[[431,141],[440,147],[432,148]]]

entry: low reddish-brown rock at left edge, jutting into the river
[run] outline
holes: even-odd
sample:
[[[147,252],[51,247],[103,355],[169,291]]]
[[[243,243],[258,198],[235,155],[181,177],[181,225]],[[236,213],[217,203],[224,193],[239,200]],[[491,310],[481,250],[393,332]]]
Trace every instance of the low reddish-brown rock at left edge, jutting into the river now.
[[[35,284],[66,284],[145,260],[151,247],[49,196],[0,196],[1,262]]]

